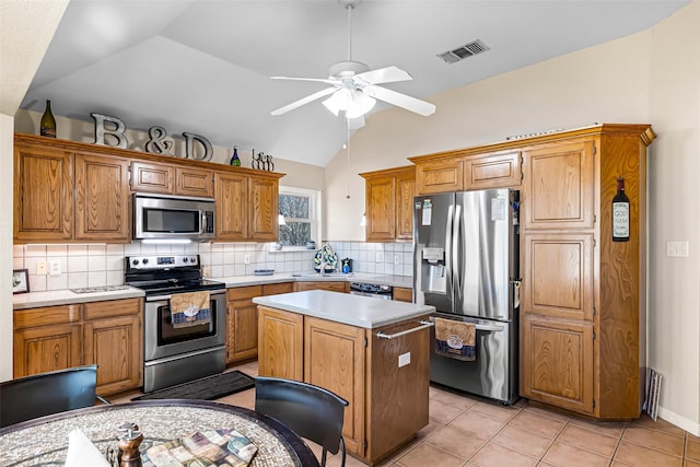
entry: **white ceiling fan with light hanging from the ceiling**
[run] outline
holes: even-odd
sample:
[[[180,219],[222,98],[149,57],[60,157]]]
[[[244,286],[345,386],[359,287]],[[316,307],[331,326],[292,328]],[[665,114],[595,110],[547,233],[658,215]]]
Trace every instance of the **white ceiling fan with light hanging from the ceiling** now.
[[[338,0],[348,11],[348,60],[331,65],[328,69],[328,78],[271,77],[273,80],[317,81],[332,85],[272,110],[272,115],[285,114],[325,96],[329,97],[323,104],[336,116],[340,112],[345,112],[351,128],[364,126],[364,115],[374,107],[376,100],[425,117],[435,112],[435,106],[429,102],[377,85],[412,80],[411,75],[406,71],[397,67],[370,70],[366,65],[352,60],[352,10],[361,1]]]

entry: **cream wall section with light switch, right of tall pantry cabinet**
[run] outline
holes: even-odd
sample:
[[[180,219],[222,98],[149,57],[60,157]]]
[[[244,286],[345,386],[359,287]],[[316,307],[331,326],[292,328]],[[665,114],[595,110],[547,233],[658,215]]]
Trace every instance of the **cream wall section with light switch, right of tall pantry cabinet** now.
[[[650,34],[649,365],[663,375],[662,418],[700,420],[700,2]],[[665,256],[689,241],[688,258]]]

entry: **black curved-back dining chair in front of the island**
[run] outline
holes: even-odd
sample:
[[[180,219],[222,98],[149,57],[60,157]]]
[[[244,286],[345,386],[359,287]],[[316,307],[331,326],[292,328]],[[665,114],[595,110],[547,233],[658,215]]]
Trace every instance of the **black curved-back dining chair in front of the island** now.
[[[326,454],[340,450],[340,467],[346,465],[342,421],[348,401],[313,384],[268,376],[255,378],[255,410],[282,422],[296,434],[323,447]]]

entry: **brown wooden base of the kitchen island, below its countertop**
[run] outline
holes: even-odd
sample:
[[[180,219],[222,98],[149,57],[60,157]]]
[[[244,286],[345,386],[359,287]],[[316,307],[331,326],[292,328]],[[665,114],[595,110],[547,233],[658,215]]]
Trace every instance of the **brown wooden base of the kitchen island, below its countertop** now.
[[[325,387],[347,399],[342,436],[349,454],[375,465],[428,424],[428,330],[398,339],[417,319],[365,329],[258,307],[258,373]],[[399,367],[399,355],[410,364]]]

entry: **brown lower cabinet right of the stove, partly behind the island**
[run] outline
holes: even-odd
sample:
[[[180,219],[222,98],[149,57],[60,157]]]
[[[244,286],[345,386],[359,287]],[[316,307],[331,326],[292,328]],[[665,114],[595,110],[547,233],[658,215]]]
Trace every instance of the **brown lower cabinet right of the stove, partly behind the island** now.
[[[258,355],[258,307],[253,297],[289,293],[292,282],[235,287],[226,291],[226,364]]]

